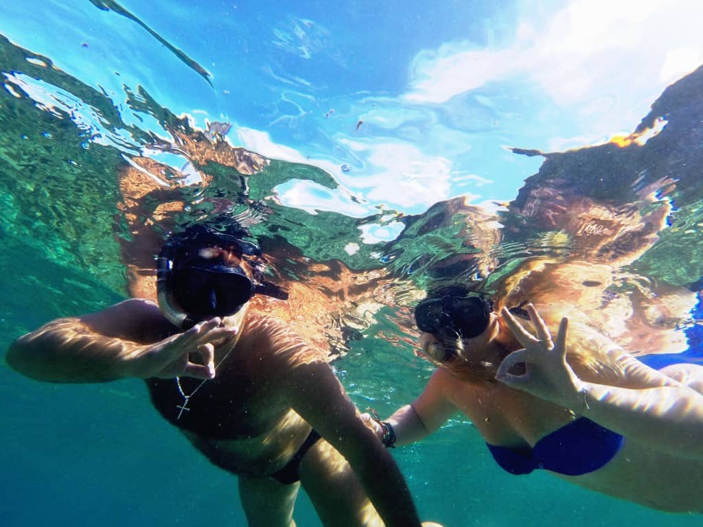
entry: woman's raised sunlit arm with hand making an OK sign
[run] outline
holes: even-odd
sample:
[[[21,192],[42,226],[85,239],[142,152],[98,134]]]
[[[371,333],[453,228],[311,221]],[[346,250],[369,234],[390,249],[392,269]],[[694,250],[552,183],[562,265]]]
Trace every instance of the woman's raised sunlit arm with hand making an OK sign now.
[[[556,340],[533,306],[528,311],[536,327],[529,334],[510,313],[506,323],[524,349],[510,353],[496,379],[556,405],[585,415],[602,427],[657,450],[703,459],[703,394],[652,370],[632,357],[624,358],[623,386],[584,382],[566,361],[568,322],[562,320]],[[517,363],[524,375],[511,375]],[[636,387],[639,386],[639,387]]]

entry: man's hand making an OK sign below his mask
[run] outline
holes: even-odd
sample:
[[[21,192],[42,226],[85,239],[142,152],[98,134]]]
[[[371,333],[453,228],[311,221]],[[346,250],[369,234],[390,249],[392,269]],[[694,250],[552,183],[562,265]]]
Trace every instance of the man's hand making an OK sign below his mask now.
[[[194,377],[212,379],[215,376],[214,350],[218,346],[234,345],[236,330],[220,327],[221,320],[213,318],[196,324],[183,333],[143,346],[131,360],[133,377]],[[202,364],[193,363],[191,354],[200,356]]]

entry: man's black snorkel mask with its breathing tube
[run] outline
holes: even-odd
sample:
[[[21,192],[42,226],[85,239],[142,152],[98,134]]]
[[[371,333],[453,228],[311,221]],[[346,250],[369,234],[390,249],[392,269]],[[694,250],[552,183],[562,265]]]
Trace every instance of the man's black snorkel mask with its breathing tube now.
[[[254,281],[243,268],[243,259],[259,256],[257,245],[207,226],[172,236],[157,260],[162,313],[186,330],[203,320],[234,315],[257,293],[287,299],[283,289]]]

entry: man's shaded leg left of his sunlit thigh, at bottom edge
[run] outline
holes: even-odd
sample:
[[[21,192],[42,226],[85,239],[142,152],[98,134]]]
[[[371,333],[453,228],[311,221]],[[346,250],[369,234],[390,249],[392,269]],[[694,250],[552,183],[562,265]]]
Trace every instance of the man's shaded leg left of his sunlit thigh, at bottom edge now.
[[[249,527],[295,527],[293,508],[300,483],[283,485],[270,476],[239,476],[239,499]]]

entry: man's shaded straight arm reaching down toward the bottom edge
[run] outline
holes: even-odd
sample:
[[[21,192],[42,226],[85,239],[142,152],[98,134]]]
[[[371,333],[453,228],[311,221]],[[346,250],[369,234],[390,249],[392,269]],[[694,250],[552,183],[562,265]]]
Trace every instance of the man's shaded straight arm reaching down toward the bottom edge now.
[[[420,526],[393,457],[363,423],[330,366],[322,361],[297,365],[288,384],[292,408],[347,459],[385,524]]]

